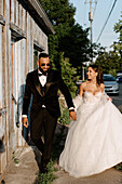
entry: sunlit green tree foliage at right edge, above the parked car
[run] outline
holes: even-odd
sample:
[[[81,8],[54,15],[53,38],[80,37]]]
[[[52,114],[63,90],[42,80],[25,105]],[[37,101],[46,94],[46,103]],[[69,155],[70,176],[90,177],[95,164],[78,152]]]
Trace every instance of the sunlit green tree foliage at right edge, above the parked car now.
[[[122,17],[122,16],[121,16]],[[122,70],[122,21],[114,25],[114,31],[119,34],[118,41],[114,41],[112,51],[98,53],[96,63],[101,66],[105,74],[112,74],[114,77],[119,70]]]

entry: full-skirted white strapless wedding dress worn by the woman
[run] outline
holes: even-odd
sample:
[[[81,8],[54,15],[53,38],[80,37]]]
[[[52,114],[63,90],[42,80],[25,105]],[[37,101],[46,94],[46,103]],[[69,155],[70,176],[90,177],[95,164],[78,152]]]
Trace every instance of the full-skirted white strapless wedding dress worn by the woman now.
[[[79,104],[80,102],[80,104]],[[100,91],[77,98],[59,166],[74,178],[100,173],[122,161],[122,115]],[[74,105],[77,105],[74,104]]]

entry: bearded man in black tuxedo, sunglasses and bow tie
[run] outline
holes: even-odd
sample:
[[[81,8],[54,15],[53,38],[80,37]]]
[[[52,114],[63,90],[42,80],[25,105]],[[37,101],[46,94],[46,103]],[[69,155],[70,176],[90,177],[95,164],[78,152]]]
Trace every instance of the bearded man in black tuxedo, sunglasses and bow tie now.
[[[40,171],[44,173],[51,158],[57,118],[60,116],[58,90],[60,90],[66,98],[70,118],[76,120],[77,114],[68,88],[59,73],[51,68],[49,55],[41,53],[37,64],[38,69],[29,73],[26,78],[22,121],[24,127],[28,128],[28,107],[32,94],[30,136],[42,153]],[[42,135],[44,136],[44,142],[41,139]]]

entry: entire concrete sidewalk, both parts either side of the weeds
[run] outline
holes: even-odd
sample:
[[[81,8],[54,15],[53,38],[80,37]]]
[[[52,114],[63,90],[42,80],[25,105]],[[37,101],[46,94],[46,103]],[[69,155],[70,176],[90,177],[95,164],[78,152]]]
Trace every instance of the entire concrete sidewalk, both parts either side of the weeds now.
[[[38,155],[39,152],[36,150],[33,153],[33,150],[36,150],[36,148],[17,148],[15,158],[18,159],[18,163],[15,163],[15,160],[13,159],[4,174],[0,176],[0,181],[3,180],[5,184],[36,184],[39,171],[36,160],[40,156]],[[116,169],[80,179],[71,178],[62,170],[54,174],[57,179],[52,184],[122,184],[122,172],[117,171]]]

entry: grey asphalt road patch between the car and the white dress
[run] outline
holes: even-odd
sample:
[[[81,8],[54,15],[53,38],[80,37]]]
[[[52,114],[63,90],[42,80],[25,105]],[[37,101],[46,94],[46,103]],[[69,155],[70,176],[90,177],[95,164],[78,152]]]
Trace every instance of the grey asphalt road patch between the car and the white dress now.
[[[112,103],[119,108],[122,109],[122,83],[120,83],[119,95],[109,95],[112,98]]]

